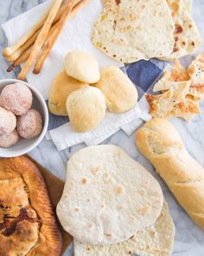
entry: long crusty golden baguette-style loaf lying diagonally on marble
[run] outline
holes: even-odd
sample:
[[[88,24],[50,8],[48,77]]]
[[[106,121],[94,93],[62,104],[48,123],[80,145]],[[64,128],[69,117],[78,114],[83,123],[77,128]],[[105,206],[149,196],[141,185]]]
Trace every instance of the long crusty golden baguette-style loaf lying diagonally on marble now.
[[[154,118],[138,130],[136,142],[176,200],[204,230],[204,168],[188,154],[174,126]]]

